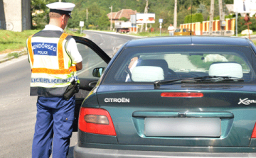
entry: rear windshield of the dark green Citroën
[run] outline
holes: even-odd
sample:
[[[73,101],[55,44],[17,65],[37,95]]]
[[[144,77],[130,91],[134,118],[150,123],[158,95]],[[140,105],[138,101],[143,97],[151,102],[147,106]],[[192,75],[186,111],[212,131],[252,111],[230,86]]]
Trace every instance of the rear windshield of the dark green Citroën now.
[[[103,84],[218,76],[255,80],[255,54],[241,46],[158,46],[123,50]]]

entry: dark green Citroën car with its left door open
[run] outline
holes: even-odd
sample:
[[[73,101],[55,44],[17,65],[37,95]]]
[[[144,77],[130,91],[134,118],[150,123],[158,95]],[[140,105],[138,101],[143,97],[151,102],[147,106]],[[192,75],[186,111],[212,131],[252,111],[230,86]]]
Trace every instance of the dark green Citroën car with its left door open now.
[[[93,50],[78,47],[81,91],[93,89],[76,96],[75,158],[256,157],[256,47],[247,38],[141,38],[111,60],[75,40]]]

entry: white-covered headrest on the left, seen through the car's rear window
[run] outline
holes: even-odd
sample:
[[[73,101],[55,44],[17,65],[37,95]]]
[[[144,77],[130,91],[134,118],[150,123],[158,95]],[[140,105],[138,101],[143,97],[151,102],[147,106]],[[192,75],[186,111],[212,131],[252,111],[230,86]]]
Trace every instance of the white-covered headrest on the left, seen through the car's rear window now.
[[[164,80],[164,71],[161,67],[140,66],[132,70],[132,81]]]

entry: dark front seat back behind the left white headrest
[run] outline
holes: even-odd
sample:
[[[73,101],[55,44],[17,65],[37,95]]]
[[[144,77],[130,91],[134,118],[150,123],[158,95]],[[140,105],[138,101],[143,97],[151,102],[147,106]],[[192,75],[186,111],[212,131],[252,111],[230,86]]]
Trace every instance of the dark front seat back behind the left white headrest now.
[[[153,66],[153,67],[161,67],[164,70],[164,77],[167,77],[169,67],[166,60],[142,60],[138,66]]]

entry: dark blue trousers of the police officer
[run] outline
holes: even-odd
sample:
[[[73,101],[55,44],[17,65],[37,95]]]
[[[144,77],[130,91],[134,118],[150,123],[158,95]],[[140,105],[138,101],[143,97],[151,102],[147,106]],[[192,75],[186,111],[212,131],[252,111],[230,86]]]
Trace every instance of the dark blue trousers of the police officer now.
[[[32,157],[66,157],[73,130],[75,96],[66,101],[63,97],[38,96]]]

